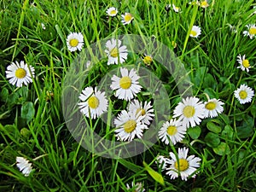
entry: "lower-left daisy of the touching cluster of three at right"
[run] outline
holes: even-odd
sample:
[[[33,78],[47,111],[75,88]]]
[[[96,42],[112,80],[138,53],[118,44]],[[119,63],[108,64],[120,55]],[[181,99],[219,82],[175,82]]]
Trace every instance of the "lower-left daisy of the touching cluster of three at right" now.
[[[171,140],[172,144],[175,145],[177,142],[181,142],[183,140],[186,131],[186,127],[183,126],[180,121],[171,119],[162,125],[158,136],[162,142],[166,143],[166,145],[169,144],[169,140]]]

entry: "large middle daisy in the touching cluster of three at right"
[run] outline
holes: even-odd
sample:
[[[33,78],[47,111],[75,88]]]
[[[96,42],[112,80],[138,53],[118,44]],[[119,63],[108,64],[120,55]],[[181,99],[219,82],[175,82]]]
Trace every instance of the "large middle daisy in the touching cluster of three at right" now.
[[[177,118],[183,123],[183,126],[189,128],[199,125],[201,119],[205,117],[205,105],[196,97],[187,97],[183,102],[179,102],[174,109],[173,118]]]

